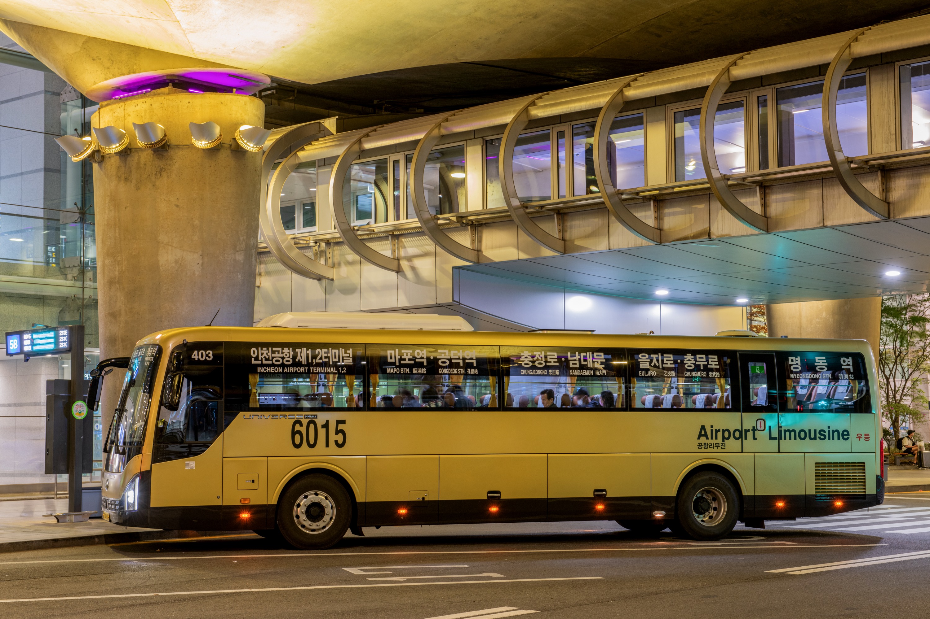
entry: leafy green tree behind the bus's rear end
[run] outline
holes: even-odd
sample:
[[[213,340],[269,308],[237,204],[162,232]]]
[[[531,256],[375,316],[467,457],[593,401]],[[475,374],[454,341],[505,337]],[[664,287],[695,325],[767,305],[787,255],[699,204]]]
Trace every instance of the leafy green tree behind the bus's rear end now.
[[[930,374],[930,295],[883,297],[878,368],[883,415],[897,442],[901,426],[927,416],[922,388]]]

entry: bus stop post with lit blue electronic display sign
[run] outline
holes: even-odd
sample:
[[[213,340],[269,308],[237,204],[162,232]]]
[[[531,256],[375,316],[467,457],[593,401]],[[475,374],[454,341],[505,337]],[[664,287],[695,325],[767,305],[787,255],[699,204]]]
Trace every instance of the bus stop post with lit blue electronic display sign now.
[[[81,511],[84,473],[84,433],[91,431],[85,421],[84,325],[46,327],[7,333],[7,356],[22,355],[23,361],[40,355],[71,352],[70,393],[65,412],[68,417],[68,512],[46,514],[59,522],[80,522],[96,512]]]

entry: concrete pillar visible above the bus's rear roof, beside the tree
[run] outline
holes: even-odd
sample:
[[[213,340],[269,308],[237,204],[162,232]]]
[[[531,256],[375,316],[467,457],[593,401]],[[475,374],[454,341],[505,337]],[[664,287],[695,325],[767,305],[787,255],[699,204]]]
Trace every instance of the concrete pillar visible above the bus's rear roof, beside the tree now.
[[[864,339],[878,358],[882,297],[805,301],[765,306],[769,337]]]

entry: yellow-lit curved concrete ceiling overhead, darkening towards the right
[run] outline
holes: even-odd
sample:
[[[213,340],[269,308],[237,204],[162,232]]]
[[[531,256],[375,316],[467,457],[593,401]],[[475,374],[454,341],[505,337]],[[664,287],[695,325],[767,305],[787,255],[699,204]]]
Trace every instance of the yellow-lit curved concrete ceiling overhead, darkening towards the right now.
[[[192,66],[184,64],[190,60],[265,72],[298,89],[280,106],[283,118],[289,105],[298,122],[311,108],[340,103],[361,108],[342,113],[421,113],[507,99],[868,26],[924,6],[926,0],[4,0],[0,28],[60,74],[56,64],[87,67],[85,81],[94,84],[159,64]],[[25,26],[61,34],[43,41],[26,33],[24,41],[17,32]],[[62,45],[64,33],[132,46],[126,66],[114,60],[113,47]],[[43,54],[40,46],[56,48]],[[56,55],[64,58],[50,58]],[[80,72],[72,67],[68,79],[86,87]]]

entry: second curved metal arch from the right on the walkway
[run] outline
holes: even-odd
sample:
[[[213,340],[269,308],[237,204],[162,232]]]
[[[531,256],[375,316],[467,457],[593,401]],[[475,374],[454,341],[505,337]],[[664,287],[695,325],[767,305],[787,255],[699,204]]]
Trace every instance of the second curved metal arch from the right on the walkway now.
[[[723,98],[726,89],[731,84],[730,68],[745,56],[747,54],[742,54],[727,62],[726,66],[714,76],[711,86],[707,88],[707,94],[704,95],[704,102],[700,108],[700,156],[701,163],[704,165],[704,176],[707,177],[708,182],[711,184],[713,195],[716,196],[720,205],[726,209],[726,212],[753,230],[767,232],[768,217],[753,211],[749,206],[743,204],[734,195],[733,191],[730,191],[726,175],[720,172],[720,165],[717,163],[717,149],[713,144],[714,119],[717,115],[717,106],[720,105],[720,99]],[[746,151],[745,146],[743,151]]]

